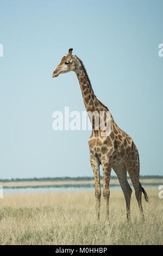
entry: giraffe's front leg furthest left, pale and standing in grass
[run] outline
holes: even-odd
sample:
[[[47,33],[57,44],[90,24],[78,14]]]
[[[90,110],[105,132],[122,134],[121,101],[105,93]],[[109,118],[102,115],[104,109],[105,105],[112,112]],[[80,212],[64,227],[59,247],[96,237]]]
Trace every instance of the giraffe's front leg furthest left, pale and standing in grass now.
[[[101,203],[101,187],[100,187],[100,171],[99,171],[99,161],[96,156],[90,154],[90,162],[95,176],[95,197],[96,197],[96,216],[99,220],[99,209]]]

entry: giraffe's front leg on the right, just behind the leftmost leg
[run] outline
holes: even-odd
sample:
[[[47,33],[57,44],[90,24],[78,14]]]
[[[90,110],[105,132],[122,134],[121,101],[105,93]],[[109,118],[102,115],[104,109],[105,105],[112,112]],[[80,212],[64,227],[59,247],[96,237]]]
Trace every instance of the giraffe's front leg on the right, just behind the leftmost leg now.
[[[110,173],[111,173],[111,164],[108,162],[102,163],[103,166],[103,197],[105,200],[105,220],[109,220],[109,183],[110,183]]]

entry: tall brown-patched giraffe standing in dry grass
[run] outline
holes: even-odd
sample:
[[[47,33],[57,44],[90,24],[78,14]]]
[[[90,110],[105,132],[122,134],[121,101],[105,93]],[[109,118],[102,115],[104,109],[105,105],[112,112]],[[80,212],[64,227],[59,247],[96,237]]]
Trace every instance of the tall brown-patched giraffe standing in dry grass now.
[[[104,113],[104,123],[106,124],[106,113],[109,112],[101,101],[95,96],[89,76],[85,66],[76,55],[72,55],[72,48],[69,49],[67,56],[62,57],[57,69],[52,77],[57,77],[70,71],[74,71],[78,77],[82,90],[84,105],[87,113]],[[90,115],[89,115],[90,117]],[[111,168],[115,171],[120,182],[124,198],[126,200],[127,221],[130,222],[130,198],[131,187],[127,181],[127,171],[135,190],[135,196],[139,205],[142,220],[144,220],[141,196],[142,192],[148,202],[147,193],[139,182],[140,161],[139,152],[133,139],[117,126],[110,114],[110,133],[102,135],[102,129],[95,129],[95,118],[90,119],[92,123],[92,134],[89,139],[90,163],[95,176],[95,198],[96,216],[99,220],[101,205],[101,185],[100,185],[100,165],[103,169],[103,198],[105,201],[105,220],[109,220],[109,196],[110,196],[110,173]]]

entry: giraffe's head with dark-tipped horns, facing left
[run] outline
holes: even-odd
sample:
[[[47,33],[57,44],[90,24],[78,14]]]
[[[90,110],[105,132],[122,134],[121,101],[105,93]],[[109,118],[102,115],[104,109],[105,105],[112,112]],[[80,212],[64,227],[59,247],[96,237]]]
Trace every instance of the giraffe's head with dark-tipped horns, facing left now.
[[[52,77],[57,77],[70,71],[76,70],[76,57],[72,55],[72,48],[69,49],[67,56],[62,57],[57,69],[53,72]]]

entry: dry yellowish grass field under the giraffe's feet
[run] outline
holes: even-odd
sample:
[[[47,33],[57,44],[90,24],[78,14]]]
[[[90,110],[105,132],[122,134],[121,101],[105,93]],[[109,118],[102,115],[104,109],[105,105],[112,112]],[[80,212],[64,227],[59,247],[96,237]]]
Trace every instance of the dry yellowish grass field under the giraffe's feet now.
[[[126,221],[122,191],[111,190],[110,221],[96,221],[94,192],[4,194],[0,199],[1,245],[162,245],[163,199],[159,190],[142,195],[145,222],[141,222],[134,191],[131,225]]]

